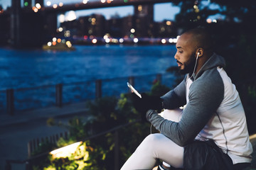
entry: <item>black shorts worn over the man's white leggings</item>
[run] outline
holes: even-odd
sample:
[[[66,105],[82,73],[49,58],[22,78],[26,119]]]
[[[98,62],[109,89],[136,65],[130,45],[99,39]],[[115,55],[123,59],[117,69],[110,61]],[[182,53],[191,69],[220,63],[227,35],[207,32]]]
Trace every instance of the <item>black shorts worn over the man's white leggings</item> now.
[[[196,140],[184,147],[183,167],[189,170],[233,170],[233,162],[213,140]]]

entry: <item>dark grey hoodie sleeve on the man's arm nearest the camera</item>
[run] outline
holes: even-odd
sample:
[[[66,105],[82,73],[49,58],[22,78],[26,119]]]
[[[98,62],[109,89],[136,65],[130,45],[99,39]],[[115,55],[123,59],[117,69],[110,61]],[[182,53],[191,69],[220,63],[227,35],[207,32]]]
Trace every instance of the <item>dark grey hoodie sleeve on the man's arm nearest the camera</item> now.
[[[223,101],[224,85],[217,72],[191,84],[189,102],[178,123],[166,120],[152,110],[147,111],[147,120],[181,147],[193,141]]]

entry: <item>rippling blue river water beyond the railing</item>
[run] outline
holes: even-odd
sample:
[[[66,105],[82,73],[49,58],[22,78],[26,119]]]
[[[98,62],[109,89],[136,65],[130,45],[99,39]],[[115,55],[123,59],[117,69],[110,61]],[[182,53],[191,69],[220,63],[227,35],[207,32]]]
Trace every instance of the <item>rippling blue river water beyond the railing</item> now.
[[[63,91],[68,91],[63,93],[63,103],[71,103],[92,98],[95,91],[90,89],[94,89],[95,85],[89,82],[95,79],[108,79],[105,84],[102,83],[102,91],[110,91],[111,87],[118,91],[127,88],[124,83],[127,77],[138,77],[136,84],[153,81],[149,74],[166,74],[167,68],[176,65],[175,45],[75,45],[75,48],[75,51],[65,52],[0,48],[0,111],[4,112],[6,108],[6,89],[14,89],[16,110],[24,110],[54,105],[55,98],[52,96],[55,96],[55,89],[52,86],[55,84],[69,84],[63,85]],[[124,81],[124,86],[107,84],[107,81],[117,78]],[[84,89],[87,93],[81,96]],[[47,95],[46,91],[50,94]],[[42,104],[38,99],[42,96],[48,102]]]

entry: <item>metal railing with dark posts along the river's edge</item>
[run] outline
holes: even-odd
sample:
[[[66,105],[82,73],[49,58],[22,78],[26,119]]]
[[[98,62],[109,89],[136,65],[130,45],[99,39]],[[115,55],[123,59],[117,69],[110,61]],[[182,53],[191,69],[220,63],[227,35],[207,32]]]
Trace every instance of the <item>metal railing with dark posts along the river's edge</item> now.
[[[70,84],[6,89],[0,91],[0,113],[14,115],[17,111],[49,106],[61,107],[65,104],[92,100],[102,96],[119,96],[129,91],[126,85],[127,81],[132,85],[137,85],[138,91],[149,91],[155,80],[170,87],[174,75],[170,73],[146,74],[137,77],[95,79]]]

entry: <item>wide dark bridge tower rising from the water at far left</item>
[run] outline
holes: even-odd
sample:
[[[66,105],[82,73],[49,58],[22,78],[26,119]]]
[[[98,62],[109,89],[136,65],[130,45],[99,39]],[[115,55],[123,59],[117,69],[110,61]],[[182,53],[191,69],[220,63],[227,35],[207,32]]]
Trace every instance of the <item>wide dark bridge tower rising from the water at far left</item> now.
[[[34,3],[33,3],[34,2]],[[11,0],[11,45],[16,48],[41,47],[46,42],[49,14],[32,10],[32,5],[43,0]],[[57,25],[57,16],[55,24]]]

